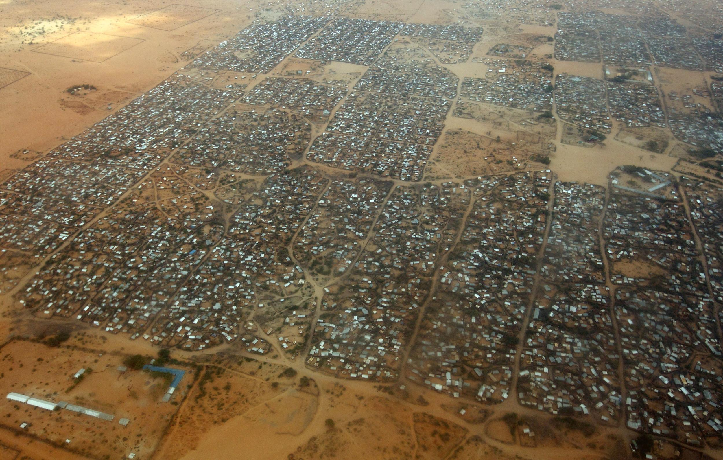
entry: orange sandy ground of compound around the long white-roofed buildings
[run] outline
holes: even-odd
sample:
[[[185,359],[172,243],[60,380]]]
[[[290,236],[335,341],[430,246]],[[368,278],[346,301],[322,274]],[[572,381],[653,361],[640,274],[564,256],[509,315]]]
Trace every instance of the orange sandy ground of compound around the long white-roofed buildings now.
[[[67,401],[116,417],[107,421],[66,409],[48,411],[0,400],[0,413],[4,414],[0,428],[20,430],[22,422],[30,423],[21,433],[64,446],[71,453],[148,455],[176,412],[175,405],[161,401],[168,380],[147,372],[119,372],[116,367],[121,365],[122,354],[56,348],[22,340],[11,341],[0,353],[2,394],[14,391],[56,403]],[[83,378],[73,378],[80,369],[85,369]],[[184,391],[179,389],[176,397],[182,399]],[[121,418],[130,420],[127,427],[119,425]],[[106,442],[95,446],[98,439]]]

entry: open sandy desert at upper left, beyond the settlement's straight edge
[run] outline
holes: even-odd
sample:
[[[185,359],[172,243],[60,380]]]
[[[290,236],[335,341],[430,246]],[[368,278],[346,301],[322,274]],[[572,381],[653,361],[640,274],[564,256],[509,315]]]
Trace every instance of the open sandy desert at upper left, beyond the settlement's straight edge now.
[[[195,9],[163,12],[156,10],[168,4],[158,0],[1,3],[0,67],[27,72],[0,88],[4,168],[27,164],[9,158],[15,151],[48,150],[158,85],[188,62],[180,55],[200,41],[219,43],[253,20],[245,0],[192,1],[187,5]],[[74,22],[54,19],[59,16]],[[40,29],[48,33],[27,36]],[[90,103],[65,92],[82,84],[98,88]]]

